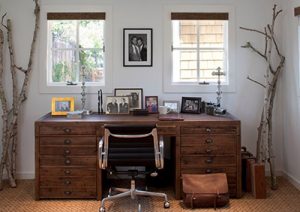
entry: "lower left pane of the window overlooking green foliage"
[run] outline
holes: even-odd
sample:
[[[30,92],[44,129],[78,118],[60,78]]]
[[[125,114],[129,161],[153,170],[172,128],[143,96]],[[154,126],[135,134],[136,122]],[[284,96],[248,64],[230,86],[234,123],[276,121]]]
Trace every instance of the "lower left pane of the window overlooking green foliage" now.
[[[75,51],[52,51],[52,82],[76,81]]]

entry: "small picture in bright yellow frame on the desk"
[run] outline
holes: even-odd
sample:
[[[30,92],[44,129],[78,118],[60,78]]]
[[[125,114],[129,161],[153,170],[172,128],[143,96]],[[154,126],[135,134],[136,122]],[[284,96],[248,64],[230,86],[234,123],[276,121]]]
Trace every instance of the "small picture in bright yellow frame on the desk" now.
[[[74,111],[74,97],[52,97],[51,115],[67,115]]]

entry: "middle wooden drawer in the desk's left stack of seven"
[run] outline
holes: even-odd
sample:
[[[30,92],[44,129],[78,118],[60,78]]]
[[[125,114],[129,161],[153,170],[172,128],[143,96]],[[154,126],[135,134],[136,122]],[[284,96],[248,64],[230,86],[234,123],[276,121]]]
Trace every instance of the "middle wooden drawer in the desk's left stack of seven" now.
[[[41,156],[40,166],[81,166],[96,167],[96,156],[91,157],[62,157],[62,156]]]

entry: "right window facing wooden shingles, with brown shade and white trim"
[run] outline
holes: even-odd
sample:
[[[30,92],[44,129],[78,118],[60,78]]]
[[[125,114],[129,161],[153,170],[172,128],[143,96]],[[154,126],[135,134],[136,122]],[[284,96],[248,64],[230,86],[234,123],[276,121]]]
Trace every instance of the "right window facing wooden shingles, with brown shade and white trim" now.
[[[185,6],[177,12],[174,8],[167,9],[171,26],[165,40],[171,48],[165,53],[164,90],[215,92],[218,76],[213,72],[220,67],[222,90],[234,91],[233,9],[216,7],[215,12],[213,6]]]

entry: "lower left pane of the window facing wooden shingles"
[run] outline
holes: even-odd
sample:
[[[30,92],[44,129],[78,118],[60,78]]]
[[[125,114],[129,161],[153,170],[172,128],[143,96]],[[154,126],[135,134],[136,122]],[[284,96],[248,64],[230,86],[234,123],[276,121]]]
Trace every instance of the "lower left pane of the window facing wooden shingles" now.
[[[173,81],[175,82],[196,82],[197,51],[174,50],[173,73]]]

